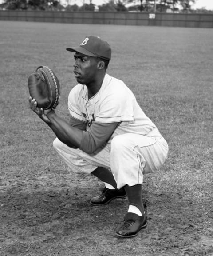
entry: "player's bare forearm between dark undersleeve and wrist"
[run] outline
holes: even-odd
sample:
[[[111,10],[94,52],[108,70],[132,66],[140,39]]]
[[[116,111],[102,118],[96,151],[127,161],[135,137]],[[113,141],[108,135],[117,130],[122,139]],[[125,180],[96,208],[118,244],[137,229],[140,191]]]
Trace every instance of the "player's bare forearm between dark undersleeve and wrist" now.
[[[57,116],[55,112],[47,114],[47,117],[51,121],[48,123],[49,127],[52,129],[59,140],[61,140],[68,147],[75,146],[79,148],[83,133],[82,130],[72,127],[67,123],[66,120],[60,116]]]

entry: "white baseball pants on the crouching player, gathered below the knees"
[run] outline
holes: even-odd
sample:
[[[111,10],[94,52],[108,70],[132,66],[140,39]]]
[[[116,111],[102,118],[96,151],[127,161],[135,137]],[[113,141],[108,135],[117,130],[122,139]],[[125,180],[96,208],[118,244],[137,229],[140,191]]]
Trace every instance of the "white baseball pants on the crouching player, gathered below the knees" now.
[[[133,133],[115,136],[111,144],[90,155],[79,148],[68,147],[58,138],[53,141],[53,147],[73,172],[90,174],[99,166],[110,169],[118,189],[142,184],[143,174],[161,168],[168,153],[168,144],[163,137]]]

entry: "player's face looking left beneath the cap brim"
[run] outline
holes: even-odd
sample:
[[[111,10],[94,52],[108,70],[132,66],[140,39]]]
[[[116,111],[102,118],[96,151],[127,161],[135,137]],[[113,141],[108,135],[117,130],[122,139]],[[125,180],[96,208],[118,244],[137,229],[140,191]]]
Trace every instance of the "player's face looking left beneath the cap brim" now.
[[[91,84],[97,75],[98,62],[95,57],[90,57],[76,52],[74,55],[74,74],[78,83]]]

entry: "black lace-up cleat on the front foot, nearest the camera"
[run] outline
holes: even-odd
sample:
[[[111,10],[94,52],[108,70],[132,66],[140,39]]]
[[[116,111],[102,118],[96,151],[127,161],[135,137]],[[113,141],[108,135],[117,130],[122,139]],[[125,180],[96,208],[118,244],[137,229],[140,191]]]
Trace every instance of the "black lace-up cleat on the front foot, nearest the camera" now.
[[[124,216],[123,224],[116,230],[116,236],[120,237],[134,237],[142,228],[146,228],[146,215],[139,216],[135,213],[128,212]]]

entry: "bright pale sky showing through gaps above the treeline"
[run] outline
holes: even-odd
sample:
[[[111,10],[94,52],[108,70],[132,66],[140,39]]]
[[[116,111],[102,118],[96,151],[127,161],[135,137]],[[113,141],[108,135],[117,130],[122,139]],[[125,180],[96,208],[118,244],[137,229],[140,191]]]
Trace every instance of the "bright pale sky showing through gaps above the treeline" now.
[[[92,3],[95,5],[101,5],[104,3],[107,3],[109,0],[92,0]],[[89,4],[90,0],[70,0],[71,4],[78,4],[82,5],[83,2],[85,4]],[[213,10],[213,0],[197,0],[196,4],[193,4],[192,8],[197,9],[197,8],[202,8],[205,7],[208,10]]]

